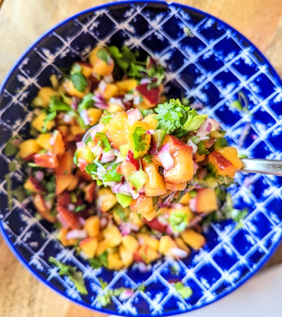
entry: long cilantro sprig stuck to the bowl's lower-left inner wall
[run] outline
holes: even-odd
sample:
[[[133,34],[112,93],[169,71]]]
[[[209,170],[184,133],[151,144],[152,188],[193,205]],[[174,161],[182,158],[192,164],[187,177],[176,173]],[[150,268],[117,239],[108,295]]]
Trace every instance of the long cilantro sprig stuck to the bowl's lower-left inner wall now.
[[[55,259],[53,256],[49,256],[49,262],[60,269],[59,275],[66,275],[71,281],[74,282],[74,285],[80,294],[88,294],[85,287],[83,274],[82,272],[77,271],[76,267],[62,263],[59,260]]]

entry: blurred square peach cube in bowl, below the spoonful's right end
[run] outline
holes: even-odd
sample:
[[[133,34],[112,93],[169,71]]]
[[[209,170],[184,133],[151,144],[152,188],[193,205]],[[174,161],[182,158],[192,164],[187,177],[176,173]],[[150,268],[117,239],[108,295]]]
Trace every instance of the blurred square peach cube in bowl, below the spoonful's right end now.
[[[200,188],[196,195],[196,211],[209,213],[217,210],[217,199],[214,188]]]

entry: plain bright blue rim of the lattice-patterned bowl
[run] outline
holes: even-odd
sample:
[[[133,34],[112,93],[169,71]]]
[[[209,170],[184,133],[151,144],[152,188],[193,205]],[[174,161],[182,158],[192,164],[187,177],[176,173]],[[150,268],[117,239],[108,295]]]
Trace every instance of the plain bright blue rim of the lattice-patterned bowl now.
[[[248,45],[252,46],[255,51],[257,53],[260,54],[260,57],[264,59],[264,61],[267,64],[267,67],[272,71],[273,77],[278,80],[278,82],[280,82],[280,85],[282,86],[282,81],[280,79],[279,74],[276,72],[275,68],[272,66],[272,64],[268,61],[268,59],[265,57],[264,54],[262,54],[262,52],[260,51],[260,49],[258,49],[256,47],[256,45],[254,45],[250,40],[248,40],[248,38],[246,38],[244,35],[242,35],[238,30],[236,30],[234,27],[230,26],[228,23],[226,23],[225,21],[217,18],[216,16],[211,15],[210,13],[204,12],[202,10],[199,10],[197,8],[185,5],[185,4],[181,4],[181,3],[177,3],[177,2],[169,2],[167,3],[166,1],[161,1],[161,0],[129,0],[129,1],[117,1],[117,2],[108,2],[108,3],[104,3],[98,6],[94,6],[91,7],[89,9],[80,11],[68,18],[66,18],[65,20],[56,23],[53,27],[51,27],[50,29],[48,29],[47,31],[45,31],[43,34],[41,34],[34,42],[32,42],[27,49],[25,49],[23,51],[23,53],[20,55],[20,57],[16,60],[16,62],[13,64],[13,66],[10,68],[9,72],[6,74],[6,76],[4,77],[1,85],[0,85],[0,96],[3,93],[3,89],[6,86],[6,84],[9,81],[10,76],[13,74],[13,72],[18,68],[19,64],[24,60],[24,58],[26,57],[26,55],[28,53],[30,53],[34,46],[37,45],[39,42],[41,42],[41,40],[43,40],[46,36],[50,35],[53,33],[53,31],[55,29],[57,29],[58,27],[62,27],[65,24],[67,24],[68,22],[78,18],[79,16],[83,15],[83,14],[87,14],[91,11],[95,11],[95,10],[99,10],[99,9],[103,9],[103,8],[108,8],[108,7],[115,7],[115,6],[120,6],[122,4],[131,4],[131,3],[146,3],[146,4],[162,4],[165,5],[167,7],[169,6],[177,6],[180,7],[182,9],[186,9],[186,10],[191,10],[194,11],[196,13],[200,13],[203,14],[209,18],[213,18],[216,21],[219,21],[220,23],[225,24],[229,29],[231,29],[232,31],[234,31],[237,35],[239,35],[241,37],[241,39],[243,39],[245,42],[248,43]],[[281,221],[282,224],[282,221]],[[10,238],[8,236],[8,234],[6,234],[4,227],[3,227],[3,223],[0,220],[0,233],[3,237],[3,240],[6,242],[6,244],[8,245],[9,249],[12,251],[12,253],[16,256],[17,260],[29,271],[31,272],[31,274],[37,279],[39,280],[41,283],[43,283],[44,285],[47,285],[49,288],[51,288],[54,292],[60,294],[61,296],[63,296],[64,298],[66,298],[69,301],[72,301],[73,303],[76,303],[82,307],[94,310],[94,311],[100,311],[102,313],[105,314],[110,314],[113,315],[116,311],[101,307],[100,309],[94,309],[93,307],[91,307],[89,304],[83,302],[83,301],[76,301],[74,299],[72,299],[71,297],[67,296],[65,292],[61,291],[58,288],[55,288],[55,286],[53,286],[49,281],[47,281],[46,279],[44,279],[43,277],[41,277],[38,273],[37,270],[34,269],[33,267],[28,265],[28,262],[26,261],[26,259],[22,256],[22,254],[14,247],[13,243],[10,241]],[[256,264],[255,268],[252,271],[249,271],[248,274],[244,275],[240,281],[235,283],[234,287],[230,287],[228,291],[222,292],[218,295],[216,295],[216,297],[204,304],[198,305],[198,306],[192,306],[192,308],[190,310],[187,311],[180,311],[178,310],[177,312],[173,312],[173,315],[178,315],[178,314],[186,314],[189,313],[190,311],[193,311],[195,309],[207,306],[215,301],[218,301],[219,299],[229,295],[230,293],[232,293],[235,289],[239,288],[242,284],[244,284],[246,281],[248,281],[254,274],[256,274],[260,268],[262,268],[262,266],[269,260],[269,258],[273,255],[273,253],[275,252],[275,250],[278,248],[279,244],[282,241],[282,235],[280,236],[280,238],[273,243],[273,245],[271,246],[270,249],[268,249],[268,253],[265,254],[265,256],[262,258],[262,260],[260,260],[258,262],[258,264]],[[116,312],[117,313],[117,312]],[[124,316],[124,317],[128,317],[128,316],[144,316],[144,317],[151,317],[152,314],[137,314],[137,315],[130,315],[130,314],[125,314],[124,312],[122,313],[118,313],[119,316]],[[163,312],[163,314],[161,314],[160,316],[172,316],[172,314],[168,311],[168,312]]]

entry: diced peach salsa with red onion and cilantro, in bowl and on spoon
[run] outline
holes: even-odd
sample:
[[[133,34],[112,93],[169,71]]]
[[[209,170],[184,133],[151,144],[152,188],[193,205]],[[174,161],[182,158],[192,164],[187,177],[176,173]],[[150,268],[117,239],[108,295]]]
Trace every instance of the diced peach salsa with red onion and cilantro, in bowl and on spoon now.
[[[151,57],[98,46],[33,101],[33,137],[19,145],[24,189],[93,268],[185,258],[204,246],[204,224],[240,227],[246,216],[225,190],[237,150],[198,104],[166,100],[164,78]]]

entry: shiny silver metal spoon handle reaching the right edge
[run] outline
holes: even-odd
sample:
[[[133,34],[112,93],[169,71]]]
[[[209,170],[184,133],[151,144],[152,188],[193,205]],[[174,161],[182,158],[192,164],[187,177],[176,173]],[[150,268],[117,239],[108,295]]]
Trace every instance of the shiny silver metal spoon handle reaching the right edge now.
[[[282,160],[241,159],[241,172],[282,176]]]

